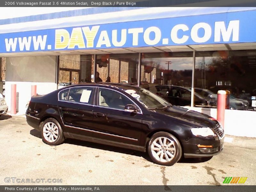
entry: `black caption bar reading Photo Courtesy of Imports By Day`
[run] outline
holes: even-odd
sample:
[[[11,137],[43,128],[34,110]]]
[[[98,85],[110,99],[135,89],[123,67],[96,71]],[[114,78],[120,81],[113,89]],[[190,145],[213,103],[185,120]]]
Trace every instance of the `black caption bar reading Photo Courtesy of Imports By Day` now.
[[[83,185],[15,185],[0,186],[1,192],[255,192],[256,186],[226,185],[226,186],[83,186]]]

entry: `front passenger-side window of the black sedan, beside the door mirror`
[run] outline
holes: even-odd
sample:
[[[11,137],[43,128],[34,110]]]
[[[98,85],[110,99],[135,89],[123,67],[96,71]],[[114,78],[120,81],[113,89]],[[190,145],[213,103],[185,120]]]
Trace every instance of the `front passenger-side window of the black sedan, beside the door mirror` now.
[[[127,104],[133,104],[133,102],[123,94],[109,89],[99,89],[99,106],[124,110]]]

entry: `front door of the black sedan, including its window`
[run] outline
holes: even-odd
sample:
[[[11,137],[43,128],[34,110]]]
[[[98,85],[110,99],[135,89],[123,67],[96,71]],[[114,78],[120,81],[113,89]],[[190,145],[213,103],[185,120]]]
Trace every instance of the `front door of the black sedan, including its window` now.
[[[125,94],[99,88],[94,107],[95,138],[124,145],[139,145],[142,126],[141,111],[124,110],[127,104],[134,104]],[[135,104],[134,104],[135,105]],[[138,107],[138,106],[137,106]]]

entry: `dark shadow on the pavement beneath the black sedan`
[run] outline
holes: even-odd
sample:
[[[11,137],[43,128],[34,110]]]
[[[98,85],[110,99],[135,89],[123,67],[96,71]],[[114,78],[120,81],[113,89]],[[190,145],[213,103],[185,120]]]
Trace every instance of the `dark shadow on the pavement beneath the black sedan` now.
[[[42,139],[40,132],[37,131],[36,129],[30,130],[30,134],[37,138]],[[114,147],[110,145],[103,145],[99,143],[93,143],[89,141],[69,139],[69,138],[65,140],[65,143],[68,143],[71,145],[80,145],[80,146],[89,147],[89,148],[96,148],[96,149],[101,149],[105,151],[112,151],[116,153],[123,153],[127,155],[132,155],[132,156],[138,156],[146,159],[147,161],[152,162],[152,160],[148,156],[148,153],[144,153],[144,152],[136,151],[132,149]],[[204,158],[183,158],[182,157],[178,163],[203,163],[203,162],[209,161],[211,158],[212,157],[204,157]],[[132,159],[129,159],[129,160],[132,160]]]

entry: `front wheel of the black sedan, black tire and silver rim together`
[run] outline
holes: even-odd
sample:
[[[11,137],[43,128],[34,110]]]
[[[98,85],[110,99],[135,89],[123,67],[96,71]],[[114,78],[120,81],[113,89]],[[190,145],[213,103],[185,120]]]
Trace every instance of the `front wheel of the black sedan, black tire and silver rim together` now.
[[[163,145],[160,143],[160,140]],[[150,138],[147,149],[151,160],[159,165],[171,166],[178,162],[182,156],[182,148],[179,140],[167,132],[155,133]]]

